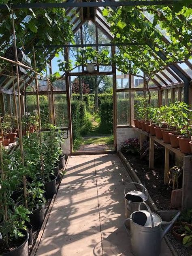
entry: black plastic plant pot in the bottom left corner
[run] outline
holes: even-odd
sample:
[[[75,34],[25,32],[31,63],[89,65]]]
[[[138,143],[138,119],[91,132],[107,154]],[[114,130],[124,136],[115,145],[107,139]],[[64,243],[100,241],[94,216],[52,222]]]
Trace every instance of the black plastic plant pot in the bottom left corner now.
[[[15,250],[11,252],[6,252],[2,254],[2,256],[28,256],[28,239],[29,239],[29,234],[26,230],[22,230],[22,233],[25,235],[26,239],[25,241],[17,247]]]

